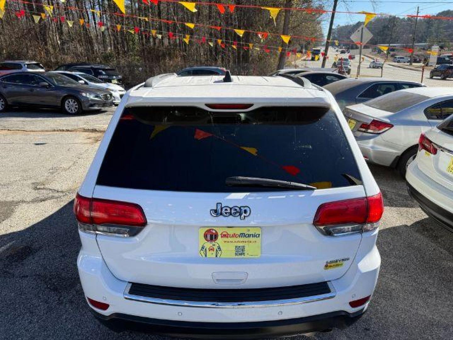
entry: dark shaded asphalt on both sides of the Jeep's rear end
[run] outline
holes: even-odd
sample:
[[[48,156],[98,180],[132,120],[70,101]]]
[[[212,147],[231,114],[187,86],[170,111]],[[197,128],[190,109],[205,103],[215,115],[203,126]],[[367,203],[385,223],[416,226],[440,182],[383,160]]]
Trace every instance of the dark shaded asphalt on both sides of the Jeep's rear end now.
[[[382,230],[378,247],[382,267],[369,311],[347,330],[313,338],[451,339],[452,234],[423,219]],[[164,339],[116,334],[94,320],[77,274],[79,248],[72,202],[0,236],[0,338]]]

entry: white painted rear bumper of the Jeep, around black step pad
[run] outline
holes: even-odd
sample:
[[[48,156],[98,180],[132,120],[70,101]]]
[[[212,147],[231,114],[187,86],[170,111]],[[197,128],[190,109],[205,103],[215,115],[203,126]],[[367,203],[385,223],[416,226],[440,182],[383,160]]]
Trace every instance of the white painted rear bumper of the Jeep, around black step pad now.
[[[79,232],[79,235],[82,240],[82,249],[77,259],[77,267],[84,294],[93,300],[109,304],[106,311],[90,307],[103,319],[111,321],[131,318],[139,321],[151,319],[150,323],[153,324],[157,319],[159,323],[169,322],[177,325],[186,322],[201,325],[209,322],[224,325],[230,323],[242,327],[256,322],[275,323],[277,326],[279,322],[284,325],[287,322],[291,325],[310,323],[312,320],[325,318],[325,315],[330,316],[331,313],[335,313],[334,316],[356,316],[358,312],[366,310],[368,303],[352,308],[349,302],[372,295],[381,264],[381,257],[375,245],[377,236],[377,230],[375,230],[363,234],[361,246],[355,258],[351,259],[352,264],[347,272],[337,280],[330,281],[335,296],[320,300],[308,299],[308,301],[296,303],[263,306],[188,306],[188,304],[172,304],[172,301],[158,303],[127,299],[125,292],[129,282],[117,279],[110,272],[99,252],[96,236],[82,232]],[[174,282],[174,286],[178,284],[179,282]],[[294,321],[294,319],[300,320]],[[257,325],[260,326],[260,324],[253,324],[248,327],[260,328]],[[285,330],[278,330],[280,331],[283,332],[282,334],[288,334]],[[298,332],[301,331],[298,330]]]

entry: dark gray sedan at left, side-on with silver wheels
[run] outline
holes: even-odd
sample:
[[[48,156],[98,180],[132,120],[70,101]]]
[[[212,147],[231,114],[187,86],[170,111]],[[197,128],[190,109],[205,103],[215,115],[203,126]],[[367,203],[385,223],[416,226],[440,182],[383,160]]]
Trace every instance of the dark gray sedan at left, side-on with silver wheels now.
[[[82,85],[56,73],[12,73],[0,78],[0,112],[8,106],[61,107],[76,115],[113,106],[109,91]]]

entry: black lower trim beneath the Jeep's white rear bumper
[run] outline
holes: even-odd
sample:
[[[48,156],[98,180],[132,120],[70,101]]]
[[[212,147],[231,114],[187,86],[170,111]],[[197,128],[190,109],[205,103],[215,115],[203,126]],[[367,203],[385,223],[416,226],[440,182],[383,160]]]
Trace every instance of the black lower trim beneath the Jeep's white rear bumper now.
[[[329,328],[343,329],[357,321],[364,311],[365,309],[355,313],[337,311],[297,319],[264,322],[187,322],[151,319],[121,313],[104,316],[93,310],[92,313],[103,325],[113,330],[135,330],[199,339],[260,339]]]

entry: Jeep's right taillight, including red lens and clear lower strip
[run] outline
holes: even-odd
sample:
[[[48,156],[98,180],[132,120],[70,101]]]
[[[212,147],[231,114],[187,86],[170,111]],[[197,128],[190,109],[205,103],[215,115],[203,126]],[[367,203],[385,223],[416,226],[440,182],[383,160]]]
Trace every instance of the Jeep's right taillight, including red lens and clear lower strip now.
[[[382,194],[357,199],[323,203],[313,224],[329,236],[374,230],[384,212]]]

